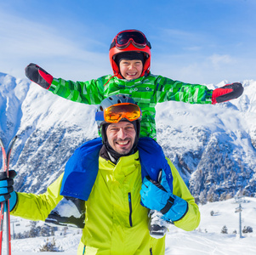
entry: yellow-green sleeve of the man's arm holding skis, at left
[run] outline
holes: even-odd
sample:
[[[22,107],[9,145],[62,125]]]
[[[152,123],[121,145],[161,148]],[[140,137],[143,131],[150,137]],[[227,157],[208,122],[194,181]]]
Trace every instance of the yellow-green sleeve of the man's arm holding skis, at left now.
[[[60,195],[62,178],[63,174],[48,186],[45,193],[40,195],[17,192],[18,201],[10,214],[30,220],[44,221],[63,197]]]

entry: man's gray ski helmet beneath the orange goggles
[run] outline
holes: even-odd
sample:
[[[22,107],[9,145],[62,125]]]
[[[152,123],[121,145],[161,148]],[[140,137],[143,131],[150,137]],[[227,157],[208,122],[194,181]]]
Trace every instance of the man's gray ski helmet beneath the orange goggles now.
[[[128,97],[128,95],[125,95],[125,94],[114,94],[114,95],[111,95],[108,98],[103,99],[102,102],[100,103],[98,109],[97,109],[97,112],[96,112],[96,122],[97,122],[97,125],[98,125],[99,133],[102,136],[103,142],[106,141],[106,135],[105,135],[105,128],[102,128],[102,127],[105,124],[109,124],[109,123],[105,122],[105,120],[103,120],[103,119],[101,119],[101,120],[99,120],[99,118],[97,119],[97,113],[99,113],[99,112],[103,113],[103,111],[106,108],[110,107],[111,105],[117,105],[117,104],[122,104],[122,103],[130,103],[130,104],[138,105],[134,101],[134,99]],[[127,119],[123,119],[123,120],[128,122]],[[132,123],[134,124],[135,130],[136,130],[136,134],[137,134],[137,137],[139,139],[140,117],[139,117],[139,119],[135,120]]]

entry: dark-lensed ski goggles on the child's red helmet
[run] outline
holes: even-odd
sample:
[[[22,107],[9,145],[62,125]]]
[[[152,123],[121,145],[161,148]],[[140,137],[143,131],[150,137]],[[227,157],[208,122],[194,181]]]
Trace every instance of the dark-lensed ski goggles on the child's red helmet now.
[[[151,48],[151,42],[146,39],[144,33],[138,30],[125,30],[119,32],[111,43],[111,48],[127,48],[131,42],[136,48],[145,48],[146,46]]]

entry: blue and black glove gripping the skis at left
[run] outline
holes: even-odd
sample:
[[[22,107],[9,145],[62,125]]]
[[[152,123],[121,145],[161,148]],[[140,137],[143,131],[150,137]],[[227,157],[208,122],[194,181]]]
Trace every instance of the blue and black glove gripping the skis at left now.
[[[0,202],[5,202],[9,200],[9,210],[12,211],[17,202],[17,194],[14,191],[14,177],[16,176],[14,170],[9,171],[9,178],[7,178],[6,172],[0,173]],[[4,207],[4,212],[6,212],[6,207]]]

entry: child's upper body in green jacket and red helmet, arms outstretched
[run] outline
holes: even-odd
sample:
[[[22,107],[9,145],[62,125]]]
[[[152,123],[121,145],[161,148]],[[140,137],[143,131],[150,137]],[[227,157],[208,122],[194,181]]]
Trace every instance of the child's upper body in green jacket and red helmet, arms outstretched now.
[[[156,139],[157,103],[175,100],[214,105],[236,99],[243,92],[242,84],[238,82],[211,90],[203,85],[152,75],[151,43],[141,31],[119,32],[111,42],[109,56],[113,76],[107,75],[87,82],[65,81],[54,78],[38,65],[30,64],[26,66],[26,77],[65,99],[88,105],[99,105],[102,99],[113,94],[126,94],[138,103],[142,111],[140,137],[152,139]],[[65,190],[65,187],[62,188],[62,191]]]

